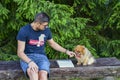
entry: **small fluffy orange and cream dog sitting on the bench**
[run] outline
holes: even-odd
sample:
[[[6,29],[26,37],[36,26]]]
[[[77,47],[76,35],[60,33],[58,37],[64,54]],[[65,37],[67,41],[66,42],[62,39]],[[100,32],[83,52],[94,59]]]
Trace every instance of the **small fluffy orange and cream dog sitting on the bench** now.
[[[74,52],[76,53],[76,59],[78,61],[77,65],[92,65],[96,62],[95,58],[85,46],[77,45],[74,48]]]

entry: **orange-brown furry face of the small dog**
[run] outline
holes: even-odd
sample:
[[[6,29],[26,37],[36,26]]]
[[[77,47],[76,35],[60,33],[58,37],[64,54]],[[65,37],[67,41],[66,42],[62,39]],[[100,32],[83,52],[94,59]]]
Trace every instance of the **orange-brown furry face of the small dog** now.
[[[77,45],[74,48],[74,52],[76,53],[76,56],[83,56],[85,54],[85,46]]]

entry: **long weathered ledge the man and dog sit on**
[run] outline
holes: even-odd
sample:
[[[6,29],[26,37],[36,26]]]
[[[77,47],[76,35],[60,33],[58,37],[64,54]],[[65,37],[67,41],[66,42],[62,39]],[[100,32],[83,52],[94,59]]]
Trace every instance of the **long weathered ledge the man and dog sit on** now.
[[[120,61],[113,58],[98,58],[97,63],[91,66],[77,66],[72,60],[74,68],[59,68],[56,60],[50,60],[50,79],[75,78],[104,78],[120,76]],[[19,61],[0,61],[0,80],[17,80],[24,76]]]

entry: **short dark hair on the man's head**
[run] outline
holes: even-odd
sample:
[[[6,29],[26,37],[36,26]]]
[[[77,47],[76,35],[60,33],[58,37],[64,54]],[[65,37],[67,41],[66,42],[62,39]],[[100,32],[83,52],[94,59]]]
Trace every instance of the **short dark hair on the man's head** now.
[[[50,18],[45,12],[41,12],[36,14],[34,22],[39,22],[39,23],[44,23],[44,22],[49,22]]]

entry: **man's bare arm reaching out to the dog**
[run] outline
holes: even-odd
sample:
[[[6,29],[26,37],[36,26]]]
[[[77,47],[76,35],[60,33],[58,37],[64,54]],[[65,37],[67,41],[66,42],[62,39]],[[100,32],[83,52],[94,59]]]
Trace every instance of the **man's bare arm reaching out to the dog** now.
[[[60,46],[58,43],[56,43],[53,39],[48,40],[48,44],[55,50],[63,52],[68,54],[70,57],[75,56],[75,53],[72,51],[69,51],[65,48],[63,48],[62,46]]]

